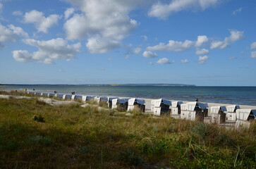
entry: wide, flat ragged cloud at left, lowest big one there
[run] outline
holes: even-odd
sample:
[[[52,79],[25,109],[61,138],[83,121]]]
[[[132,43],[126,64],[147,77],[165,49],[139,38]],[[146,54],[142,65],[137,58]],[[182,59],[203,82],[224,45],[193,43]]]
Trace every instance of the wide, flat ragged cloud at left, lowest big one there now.
[[[20,62],[37,61],[45,64],[52,64],[56,59],[70,60],[80,52],[80,43],[69,45],[64,39],[57,38],[49,41],[35,39],[23,40],[25,44],[36,46],[39,50],[30,54],[28,51],[13,51],[13,58]]]

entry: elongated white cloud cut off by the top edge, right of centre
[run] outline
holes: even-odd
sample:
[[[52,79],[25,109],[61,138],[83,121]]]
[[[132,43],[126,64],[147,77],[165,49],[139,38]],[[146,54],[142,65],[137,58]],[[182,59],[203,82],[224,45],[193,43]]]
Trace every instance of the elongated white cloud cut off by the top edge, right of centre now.
[[[154,4],[148,15],[151,17],[157,17],[161,19],[166,19],[172,13],[177,13],[179,11],[187,9],[200,8],[202,11],[210,6],[215,6],[220,0],[172,0],[169,4],[163,4],[160,1]]]

